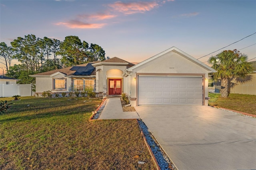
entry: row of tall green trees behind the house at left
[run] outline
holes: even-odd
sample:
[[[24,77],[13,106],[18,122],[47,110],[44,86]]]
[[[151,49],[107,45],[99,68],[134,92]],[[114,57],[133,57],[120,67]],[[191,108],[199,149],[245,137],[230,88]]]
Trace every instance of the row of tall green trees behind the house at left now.
[[[34,77],[29,75],[109,58],[105,57],[102,47],[94,43],[89,47],[78,36],[66,36],[61,42],[47,37],[36,38],[32,34],[16,38],[11,46],[1,42],[0,56],[6,76],[20,79],[18,83],[21,84],[35,83]],[[11,66],[13,59],[17,59],[20,64]]]

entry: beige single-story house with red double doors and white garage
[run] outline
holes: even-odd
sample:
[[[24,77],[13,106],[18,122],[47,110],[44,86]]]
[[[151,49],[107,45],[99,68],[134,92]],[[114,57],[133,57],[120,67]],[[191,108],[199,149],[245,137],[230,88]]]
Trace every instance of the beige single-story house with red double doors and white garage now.
[[[210,66],[171,47],[136,65],[113,57],[31,75],[36,93],[92,87],[97,97],[126,93],[137,105],[208,105]]]

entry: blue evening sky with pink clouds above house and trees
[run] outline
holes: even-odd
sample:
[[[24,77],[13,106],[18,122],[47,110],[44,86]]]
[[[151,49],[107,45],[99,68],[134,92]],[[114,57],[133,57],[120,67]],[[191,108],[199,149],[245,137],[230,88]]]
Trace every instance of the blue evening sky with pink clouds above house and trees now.
[[[199,58],[255,32],[255,0],[0,1],[0,42],[10,45],[28,34],[61,41],[78,36],[100,45],[106,56],[130,62],[144,61],[172,46]],[[254,43],[256,34],[225,49]],[[240,51],[249,59],[256,57],[256,45]],[[205,62],[211,55],[199,60]]]

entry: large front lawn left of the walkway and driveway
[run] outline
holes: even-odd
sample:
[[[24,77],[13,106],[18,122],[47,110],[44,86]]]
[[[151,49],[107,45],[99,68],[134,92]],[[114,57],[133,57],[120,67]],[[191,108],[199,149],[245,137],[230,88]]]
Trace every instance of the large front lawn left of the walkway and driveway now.
[[[1,170],[156,169],[135,120],[88,121],[102,100],[20,98],[0,115]]]

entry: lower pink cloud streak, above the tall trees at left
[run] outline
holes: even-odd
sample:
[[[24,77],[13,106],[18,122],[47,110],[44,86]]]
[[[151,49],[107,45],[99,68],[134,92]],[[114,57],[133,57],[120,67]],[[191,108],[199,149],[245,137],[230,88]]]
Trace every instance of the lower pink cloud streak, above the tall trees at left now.
[[[68,28],[80,28],[80,29],[89,29],[89,28],[102,28],[104,25],[104,23],[101,24],[89,24],[89,23],[84,23],[78,20],[70,20],[68,22],[58,22],[56,23],[56,25],[64,25]]]

